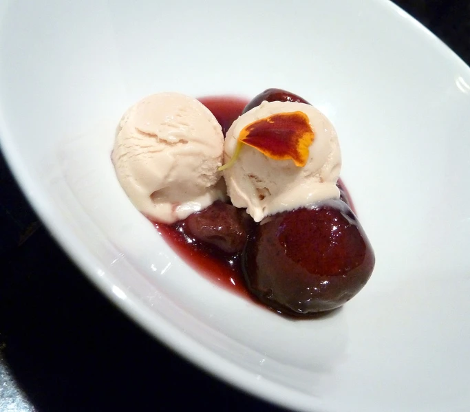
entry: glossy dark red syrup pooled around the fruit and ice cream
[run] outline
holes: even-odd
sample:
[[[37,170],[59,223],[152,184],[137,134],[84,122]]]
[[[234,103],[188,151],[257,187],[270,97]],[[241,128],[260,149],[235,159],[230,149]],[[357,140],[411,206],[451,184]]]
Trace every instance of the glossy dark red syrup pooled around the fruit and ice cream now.
[[[248,104],[247,99],[234,96],[204,97],[198,100],[217,118],[224,135]],[[341,180],[338,186],[342,191],[343,200],[354,210],[349,193]],[[171,225],[155,224],[155,226],[172,250],[191,268],[222,288],[256,302],[244,282],[241,253],[224,253],[218,248],[197,241],[187,230],[185,220]]]

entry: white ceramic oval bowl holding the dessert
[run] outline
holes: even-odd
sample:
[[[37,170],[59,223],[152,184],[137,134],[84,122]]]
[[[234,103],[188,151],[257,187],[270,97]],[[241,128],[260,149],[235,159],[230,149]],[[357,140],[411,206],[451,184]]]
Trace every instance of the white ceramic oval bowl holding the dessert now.
[[[216,376],[308,411],[470,405],[470,70],[392,3],[0,3],[2,149],[83,272]],[[337,127],[376,252],[334,316],[289,321],[191,270],[120,189],[122,112],[156,91],[281,87]],[[86,296],[83,296],[86,299]]]

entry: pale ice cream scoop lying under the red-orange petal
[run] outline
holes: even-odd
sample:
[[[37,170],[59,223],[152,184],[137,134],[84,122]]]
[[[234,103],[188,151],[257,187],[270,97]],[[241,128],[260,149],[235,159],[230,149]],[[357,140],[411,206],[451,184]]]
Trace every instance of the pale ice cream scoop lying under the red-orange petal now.
[[[224,169],[228,195],[234,206],[246,208],[255,221],[324,199],[339,198],[337,180],[341,151],[331,122],[317,109],[300,102],[262,102],[233,122],[226,134],[224,163],[237,151],[240,133],[249,124],[276,113],[301,111],[314,133],[305,166],[275,160],[243,144],[233,164]]]

